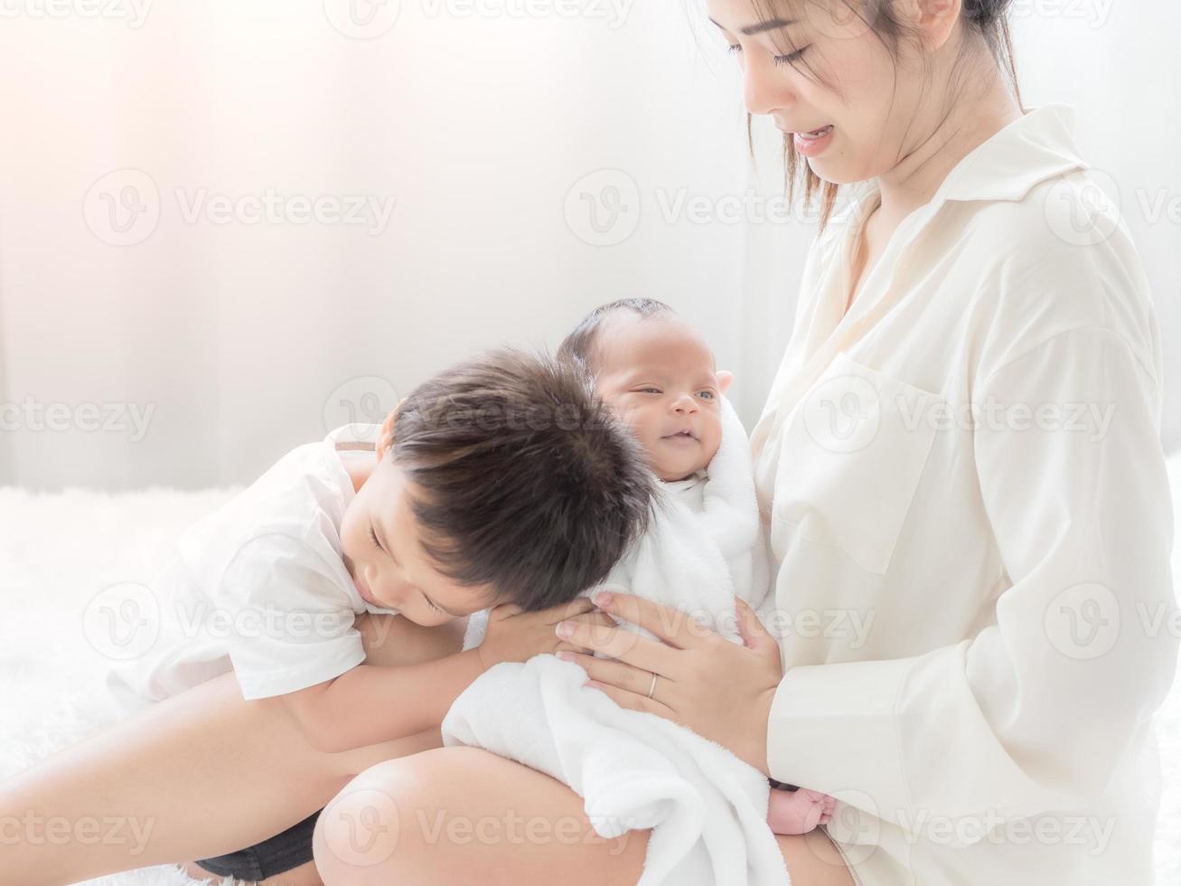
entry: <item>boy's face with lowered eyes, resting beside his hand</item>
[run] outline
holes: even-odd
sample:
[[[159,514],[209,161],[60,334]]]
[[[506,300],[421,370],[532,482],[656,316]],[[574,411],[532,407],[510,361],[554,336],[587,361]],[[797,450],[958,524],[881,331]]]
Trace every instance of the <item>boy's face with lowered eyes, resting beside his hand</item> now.
[[[419,543],[410,481],[380,452],[340,523],[345,567],[363,599],[433,627],[494,605],[491,585],[464,586],[438,571]],[[377,541],[374,541],[374,536]]]

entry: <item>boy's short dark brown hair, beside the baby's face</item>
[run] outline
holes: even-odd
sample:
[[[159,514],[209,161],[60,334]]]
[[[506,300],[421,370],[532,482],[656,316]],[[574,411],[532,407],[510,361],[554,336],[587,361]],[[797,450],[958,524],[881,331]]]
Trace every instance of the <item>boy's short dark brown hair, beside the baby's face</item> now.
[[[543,353],[491,351],[424,382],[391,455],[438,568],[526,611],[602,581],[647,528],[644,451],[578,366]]]

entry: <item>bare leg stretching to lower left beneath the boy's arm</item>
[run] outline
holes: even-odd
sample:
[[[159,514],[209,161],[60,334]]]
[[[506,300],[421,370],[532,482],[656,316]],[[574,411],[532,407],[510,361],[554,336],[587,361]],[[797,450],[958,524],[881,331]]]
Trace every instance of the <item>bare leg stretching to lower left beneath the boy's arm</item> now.
[[[370,615],[359,630],[374,664],[459,649],[455,626]],[[73,882],[234,852],[320,809],[366,767],[438,745],[435,729],[324,754],[281,699],[244,702],[224,675],[0,786],[0,882]]]

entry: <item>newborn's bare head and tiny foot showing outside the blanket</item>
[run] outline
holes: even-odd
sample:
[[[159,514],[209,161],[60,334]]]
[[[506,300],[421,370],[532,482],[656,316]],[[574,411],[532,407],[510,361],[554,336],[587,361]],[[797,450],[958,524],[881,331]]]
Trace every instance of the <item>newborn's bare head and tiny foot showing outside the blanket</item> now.
[[[593,374],[595,393],[631,426],[665,491],[700,510],[700,490],[722,443],[722,398],[733,380],[716,371],[702,335],[664,302],[624,299],[593,311],[557,353]],[[752,578],[762,585],[762,576]],[[635,581],[621,579],[613,572],[608,582]],[[740,575],[733,579],[740,584]],[[756,604],[764,593],[765,586],[755,591]],[[828,822],[834,802],[820,791],[782,786],[771,791],[768,823],[777,834],[807,833]]]

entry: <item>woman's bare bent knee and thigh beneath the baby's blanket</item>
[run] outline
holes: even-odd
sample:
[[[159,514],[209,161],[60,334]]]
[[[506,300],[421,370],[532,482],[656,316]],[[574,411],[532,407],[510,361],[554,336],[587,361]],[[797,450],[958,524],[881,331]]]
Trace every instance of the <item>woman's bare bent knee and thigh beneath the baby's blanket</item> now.
[[[355,778],[320,815],[314,845],[328,886],[625,886],[640,879],[648,836],[606,840],[556,778],[443,748]],[[795,886],[854,886],[822,829],[776,841]]]

